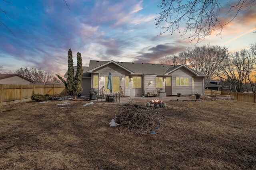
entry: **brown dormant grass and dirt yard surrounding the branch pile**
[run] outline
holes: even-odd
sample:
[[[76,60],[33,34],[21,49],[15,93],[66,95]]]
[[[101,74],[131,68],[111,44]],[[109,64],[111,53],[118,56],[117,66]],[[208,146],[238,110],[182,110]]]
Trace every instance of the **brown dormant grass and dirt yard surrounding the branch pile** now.
[[[109,127],[116,105],[61,103],[0,114],[0,169],[256,169],[256,104],[166,102],[160,133],[138,135]]]

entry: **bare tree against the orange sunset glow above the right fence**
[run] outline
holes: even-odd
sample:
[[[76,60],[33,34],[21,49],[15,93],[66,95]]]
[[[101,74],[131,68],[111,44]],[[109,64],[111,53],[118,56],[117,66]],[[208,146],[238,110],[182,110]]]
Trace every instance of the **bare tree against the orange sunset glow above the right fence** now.
[[[251,81],[250,74],[254,69],[252,53],[245,49],[236,51],[225,63],[218,76],[236,86],[238,92],[244,92],[247,86],[244,88],[243,85],[248,79]]]

